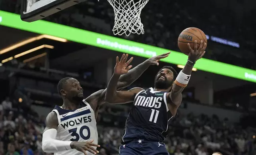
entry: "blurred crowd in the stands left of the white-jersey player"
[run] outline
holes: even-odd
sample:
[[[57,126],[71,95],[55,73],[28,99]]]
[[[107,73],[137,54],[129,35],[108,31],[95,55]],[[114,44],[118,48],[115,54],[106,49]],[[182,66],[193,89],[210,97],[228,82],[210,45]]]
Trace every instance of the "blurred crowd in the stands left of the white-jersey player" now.
[[[7,97],[0,105],[0,155],[45,154],[44,128],[44,117],[39,117],[30,106]]]

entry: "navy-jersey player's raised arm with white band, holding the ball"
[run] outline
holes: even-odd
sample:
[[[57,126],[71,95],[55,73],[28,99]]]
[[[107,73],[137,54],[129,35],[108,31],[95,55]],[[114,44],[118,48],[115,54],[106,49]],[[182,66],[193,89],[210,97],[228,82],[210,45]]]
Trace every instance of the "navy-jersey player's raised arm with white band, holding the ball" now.
[[[200,42],[199,48],[197,48],[197,41],[194,42],[194,49],[190,47],[190,44],[188,43],[188,48],[190,49],[190,54],[188,55],[188,61],[184,68],[180,71],[178,74],[175,83],[173,85],[173,88],[171,92],[169,93],[169,99],[171,99],[172,104],[172,110],[174,110],[176,113],[176,109],[180,106],[182,101],[182,91],[188,84],[188,81],[190,79],[192,68],[196,61],[204,56],[205,49],[206,49],[206,43],[203,44],[203,41]],[[172,112],[172,111],[171,111]],[[173,112],[172,112],[173,113]]]

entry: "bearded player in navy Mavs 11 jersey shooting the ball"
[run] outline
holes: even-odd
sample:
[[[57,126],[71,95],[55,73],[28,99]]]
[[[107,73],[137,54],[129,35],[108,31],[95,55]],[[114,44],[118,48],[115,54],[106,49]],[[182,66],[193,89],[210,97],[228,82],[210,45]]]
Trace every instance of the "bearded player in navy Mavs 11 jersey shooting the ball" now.
[[[194,43],[194,50],[190,49],[188,61],[179,74],[171,66],[164,66],[155,76],[154,88],[142,89],[135,87],[129,91],[116,91],[116,83],[126,68],[118,67],[120,62],[126,62],[127,55],[123,55],[120,62],[116,57],[114,74],[107,86],[105,101],[111,104],[133,102],[126,119],[120,155],[168,155],[165,149],[168,121],[176,115],[177,108],[182,101],[182,91],[188,84],[192,68],[196,60],[200,59],[206,49],[206,43]],[[168,55],[167,55],[168,56]],[[166,56],[166,57],[167,57]],[[130,69],[132,66],[126,66]]]

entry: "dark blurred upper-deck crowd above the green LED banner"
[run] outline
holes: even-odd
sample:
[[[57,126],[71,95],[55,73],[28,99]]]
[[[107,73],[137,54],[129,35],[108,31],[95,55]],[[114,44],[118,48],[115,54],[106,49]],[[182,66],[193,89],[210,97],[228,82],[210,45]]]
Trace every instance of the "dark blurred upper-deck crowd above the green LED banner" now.
[[[195,11],[194,8],[198,9]],[[205,58],[255,69],[256,55],[252,52],[255,47],[254,35],[248,34],[253,32],[253,25],[256,24],[256,20],[251,20],[256,10],[238,13],[231,8],[232,5],[224,8],[213,1],[205,3],[202,0],[197,3],[190,1],[186,5],[178,0],[149,1],[141,14],[145,34],[117,37],[179,51],[177,38],[180,32],[187,27],[198,27],[209,36],[240,44],[240,48],[237,48],[211,42]],[[0,9],[20,13],[20,1],[0,0]],[[88,16],[103,19],[111,26],[106,29],[97,25],[97,22],[86,23],[88,19],[85,18]],[[114,24],[114,11],[107,0],[88,0],[44,20],[112,35],[109,31]]]

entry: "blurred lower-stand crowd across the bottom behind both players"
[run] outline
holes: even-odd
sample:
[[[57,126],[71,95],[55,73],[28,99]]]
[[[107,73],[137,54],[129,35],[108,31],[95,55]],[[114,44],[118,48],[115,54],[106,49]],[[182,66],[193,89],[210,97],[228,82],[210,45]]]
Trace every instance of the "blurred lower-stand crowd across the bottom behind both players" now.
[[[45,117],[24,103],[6,98],[0,105],[0,155],[51,155],[42,151]],[[100,155],[117,155],[129,104],[101,107],[97,117]],[[178,111],[165,140],[170,155],[255,155],[255,136],[248,128],[217,115],[184,115]]]

